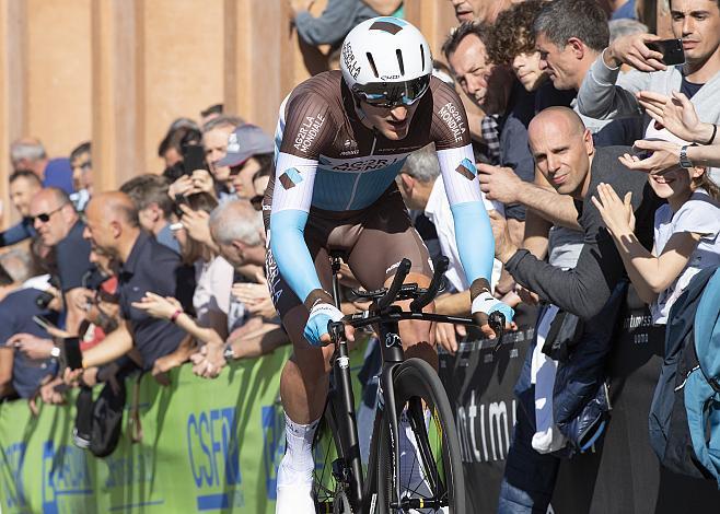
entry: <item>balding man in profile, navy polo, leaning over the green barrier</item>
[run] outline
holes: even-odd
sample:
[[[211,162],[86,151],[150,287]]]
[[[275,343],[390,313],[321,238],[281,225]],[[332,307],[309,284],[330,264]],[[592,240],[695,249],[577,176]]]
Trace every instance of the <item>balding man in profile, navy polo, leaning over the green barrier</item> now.
[[[93,248],[115,257],[120,264],[118,290],[121,323],[102,344],[83,353],[83,367],[108,363],[135,348],[144,370],[173,353],[185,338],[175,324],[149,316],[132,307],[148,291],[174,296],[184,305],[191,299],[194,281],[184,274],[179,256],[144,232],[135,203],[124,192],[94,196],[85,209],[84,237]]]

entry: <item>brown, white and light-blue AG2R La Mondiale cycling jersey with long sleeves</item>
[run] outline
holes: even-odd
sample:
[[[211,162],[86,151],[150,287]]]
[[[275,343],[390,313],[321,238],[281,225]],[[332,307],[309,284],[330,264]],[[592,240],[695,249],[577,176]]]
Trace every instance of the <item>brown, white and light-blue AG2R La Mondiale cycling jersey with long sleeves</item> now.
[[[357,217],[392,186],[407,155],[434,143],[468,282],[489,278],[495,253],[467,118],[455,91],[434,78],[418,101],[407,137],[393,141],[365,127],[339,71],[315,75],[283,101],[276,130],[269,246],[304,301],[321,288],[303,231],[316,211]],[[268,206],[269,207],[269,206]],[[491,203],[488,203],[489,208]]]

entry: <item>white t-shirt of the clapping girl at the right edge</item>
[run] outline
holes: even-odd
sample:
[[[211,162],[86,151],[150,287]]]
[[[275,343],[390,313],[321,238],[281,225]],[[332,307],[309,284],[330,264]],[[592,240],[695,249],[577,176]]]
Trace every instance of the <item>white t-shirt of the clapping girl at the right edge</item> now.
[[[689,200],[673,213],[669,205],[655,211],[655,256],[662,255],[673,234],[694,232],[700,242],[690,255],[683,272],[650,305],[652,323],[665,325],[670,308],[683,293],[690,279],[702,268],[720,265],[720,203],[704,189],[697,189]]]

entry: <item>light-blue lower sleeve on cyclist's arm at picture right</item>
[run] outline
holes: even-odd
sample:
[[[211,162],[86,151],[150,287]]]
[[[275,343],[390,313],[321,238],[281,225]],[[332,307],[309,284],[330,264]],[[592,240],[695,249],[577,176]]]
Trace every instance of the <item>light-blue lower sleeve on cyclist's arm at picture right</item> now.
[[[492,226],[483,202],[468,201],[450,207],[455,224],[457,253],[468,283],[484,278],[490,281],[495,258]]]

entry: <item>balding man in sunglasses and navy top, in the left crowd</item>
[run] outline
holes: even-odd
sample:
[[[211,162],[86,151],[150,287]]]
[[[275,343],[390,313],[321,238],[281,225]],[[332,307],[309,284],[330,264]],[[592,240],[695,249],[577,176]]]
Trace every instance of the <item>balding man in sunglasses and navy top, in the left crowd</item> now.
[[[55,248],[66,330],[77,334],[85,315],[79,306],[84,289],[82,279],[92,268],[90,245],[82,237],[84,225],[68,194],[55,187],[40,189],[31,200],[28,213],[37,236],[45,246]]]

